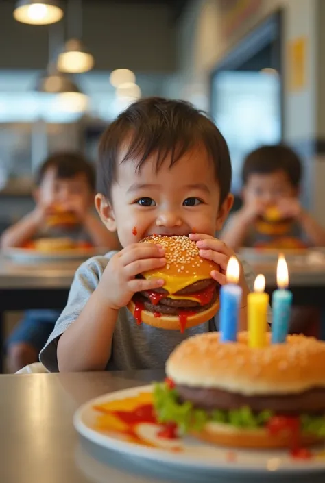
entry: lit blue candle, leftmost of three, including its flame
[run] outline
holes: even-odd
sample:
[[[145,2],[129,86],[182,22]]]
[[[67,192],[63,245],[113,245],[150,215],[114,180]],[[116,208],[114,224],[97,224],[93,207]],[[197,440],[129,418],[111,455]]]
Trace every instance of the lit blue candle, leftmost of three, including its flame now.
[[[231,257],[227,267],[228,283],[220,289],[220,340],[221,342],[235,342],[238,332],[239,308],[243,290],[237,285],[239,280],[239,263],[237,258]]]

